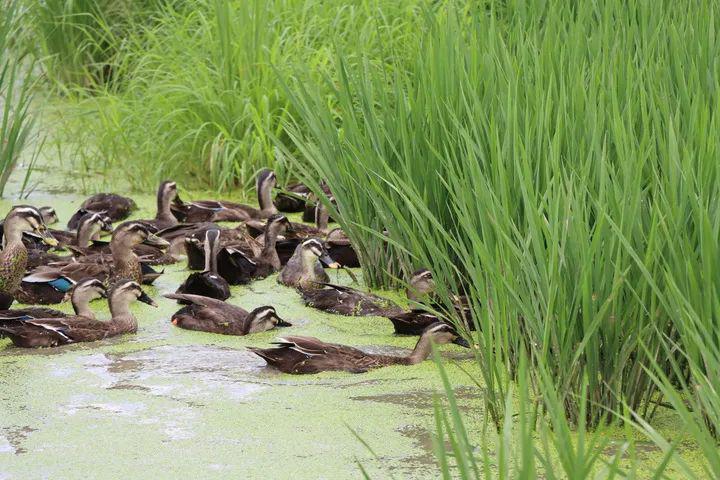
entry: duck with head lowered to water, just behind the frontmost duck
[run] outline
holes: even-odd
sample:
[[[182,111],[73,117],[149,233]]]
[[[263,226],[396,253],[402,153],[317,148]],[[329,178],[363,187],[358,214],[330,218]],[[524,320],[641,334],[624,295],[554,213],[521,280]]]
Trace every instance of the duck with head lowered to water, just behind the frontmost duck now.
[[[278,316],[274,307],[258,307],[251,312],[214,298],[200,295],[171,293],[164,297],[187,306],[175,312],[172,324],[186,330],[219,333],[222,335],[248,335],[272,330],[275,327],[291,327],[292,324]]]

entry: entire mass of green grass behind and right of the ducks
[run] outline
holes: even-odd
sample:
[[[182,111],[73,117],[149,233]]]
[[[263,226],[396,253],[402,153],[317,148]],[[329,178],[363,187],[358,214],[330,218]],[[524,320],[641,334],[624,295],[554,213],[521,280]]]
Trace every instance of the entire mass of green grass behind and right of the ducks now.
[[[720,477],[718,7],[330,3],[94,2],[87,57],[46,57],[81,161],[144,189],[323,179],[369,285],[427,266],[460,327],[467,295],[484,434],[516,440],[497,470],[438,408],[464,478],[634,476],[604,453],[623,422],[682,463],[668,406]]]

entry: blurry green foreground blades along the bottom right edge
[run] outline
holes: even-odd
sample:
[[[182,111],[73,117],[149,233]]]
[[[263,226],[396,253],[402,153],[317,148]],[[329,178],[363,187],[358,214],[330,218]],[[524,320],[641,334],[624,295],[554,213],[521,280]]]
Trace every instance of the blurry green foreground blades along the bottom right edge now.
[[[602,430],[590,432],[587,425],[571,425],[553,381],[540,384],[543,396],[533,399],[528,362],[521,360],[517,387],[511,386],[505,399],[507,415],[499,431],[485,428],[469,430],[439,355],[435,360],[443,384],[443,400],[435,401],[433,445],[442,478],[462,479],[573,479],[591,478],[670,478],[667,469],[678,467],[685,478],[698,478],[688,469],[674,446],[668,444],[647,424],[634,423],[624,416],[629,428],[610,435]],[[587,382],[584,384],[587,387]],[[583,388],[581,396],[587,395]],[[443,406],[443,404],[447,404]],[[541,408],[538,409],[538,404]],[[544,413],[543,413],[544,412]],[[609,415],[613,415],[609,413]],[[630,425],[632,424],[632,427]],[[487,424],[486,424],[487,426]],[[640,438],[655,443],[662,456],[653,465],[643,465],[635,443]],[[651,467],[648,470],[648,467]]]

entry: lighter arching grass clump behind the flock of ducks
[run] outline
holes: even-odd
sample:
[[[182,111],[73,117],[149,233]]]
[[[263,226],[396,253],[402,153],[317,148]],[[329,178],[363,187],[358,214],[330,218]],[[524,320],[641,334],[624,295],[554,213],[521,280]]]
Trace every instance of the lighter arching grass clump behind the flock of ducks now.
[[[192,0],[166,6],[125,40],[119,85],[81,102],[80,142],[88,164],[128,165],[134,186],[173,177],[227,190],[273,166],[286,176],[272,138],[292,112],[279,75],[302,62],[333,76],[334,46],[385,63],[390,45],[414,39],[421,0]],[[381,41],[379,41],[380,39]],[[89,127],[89,128],[88,128]],[[287,142],[290,145],[290,142]],[[152,160],[149,162],[148,160]]]

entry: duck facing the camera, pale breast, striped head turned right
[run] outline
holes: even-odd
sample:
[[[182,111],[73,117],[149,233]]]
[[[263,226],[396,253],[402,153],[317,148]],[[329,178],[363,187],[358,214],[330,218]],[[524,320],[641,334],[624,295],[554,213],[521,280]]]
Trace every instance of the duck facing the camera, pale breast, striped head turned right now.
[[[318,283],[327,283],[330,277],[325,273],[323,264],[329,268],[340,268],[328,255],[320,240],[305,240],[295,249],[295,253],[280,272],[278,282],[288,287],[312,288]]]

